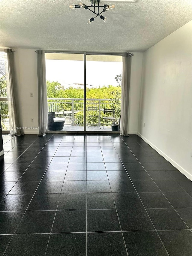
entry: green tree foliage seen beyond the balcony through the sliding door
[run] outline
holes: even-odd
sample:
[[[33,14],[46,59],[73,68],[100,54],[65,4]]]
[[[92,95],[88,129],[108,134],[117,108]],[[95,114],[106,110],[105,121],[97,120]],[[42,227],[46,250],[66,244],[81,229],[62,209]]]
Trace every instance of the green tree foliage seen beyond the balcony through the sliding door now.
[[[110,99],[110,101],[101,101],[101,108],[115,108],[116,109],[116,121],[121,116],[121,74],[115,77],[118,86],[102,86],[99,88],[86,88],[86,98],[95,99],[94,101],[86,101],[87,106],[98,106],[97,99]],[[74,101],[74,123],[77,125],[83,125],[83,98],[84,89],[75,89],[73,87],[62,90],[61,84],[58,82],[47,81],[47,98],[68,98],[68,99],[82,99],[82,101]],[[66,112],[71,114],[72,111],[71,100],[48,100],[49,111],[55,111],[58,116],[66,115]],[[111,103],[110,107],[104,107],[105,103]],[[108,105],[109,106],[109,105]],[[64,112],[65,111],[65,112]],[[93,111],[91,115],[97,115]],[[104,113],[101,112],[101,119]],[[87,123],[98,123],[98,117],[88,117],[88,111],[86,111]]]

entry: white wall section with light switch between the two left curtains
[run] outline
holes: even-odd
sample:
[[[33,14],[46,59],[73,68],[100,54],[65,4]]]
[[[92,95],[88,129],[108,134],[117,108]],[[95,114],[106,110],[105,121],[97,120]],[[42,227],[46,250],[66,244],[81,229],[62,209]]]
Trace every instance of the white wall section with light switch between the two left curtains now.
[[[22,127],[38,127],[37,59],[35,50],[15,49],[19,117]],[[33,92],[33,97],[30,93]],[[34,118],[34,122],[31,119]],[[38,129],[24,129],[25,134],[38,134]]]

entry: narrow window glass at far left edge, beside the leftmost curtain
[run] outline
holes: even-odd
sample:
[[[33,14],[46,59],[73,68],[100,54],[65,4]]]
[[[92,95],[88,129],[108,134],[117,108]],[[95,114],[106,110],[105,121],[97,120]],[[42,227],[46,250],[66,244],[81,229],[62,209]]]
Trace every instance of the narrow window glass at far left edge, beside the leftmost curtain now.
[[[6,98],[6,97],[7,97],[7,85],[6,85],[6,74],[5,74],[5,58],[4,58],[4,52],[0,51],[0,98]],[[0,99],[0,112],[1,112],[2,131],[10,130],[7,101],[1,101]]]

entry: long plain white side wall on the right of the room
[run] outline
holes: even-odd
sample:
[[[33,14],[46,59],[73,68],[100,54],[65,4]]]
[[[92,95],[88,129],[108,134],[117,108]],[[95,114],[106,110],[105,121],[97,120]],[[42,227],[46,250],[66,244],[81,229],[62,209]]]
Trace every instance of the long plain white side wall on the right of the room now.
[[[192,21],[143,54],[138,132],[192,180]]]

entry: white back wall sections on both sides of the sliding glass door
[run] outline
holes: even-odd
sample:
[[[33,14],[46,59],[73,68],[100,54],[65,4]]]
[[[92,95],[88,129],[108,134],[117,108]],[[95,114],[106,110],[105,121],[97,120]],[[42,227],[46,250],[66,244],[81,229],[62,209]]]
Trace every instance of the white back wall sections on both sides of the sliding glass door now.
[[[15,49],[16,79],[19,112],[22,127],[38,126],[37,60],[34,49]],[[129,133],[137,134],[143,53],[132,57]],[[33,92],[33,98],[30,97]],[[31,122],[34,118],[34,123]],[[25,134],[38,134],[38,130],[24,129]]]

